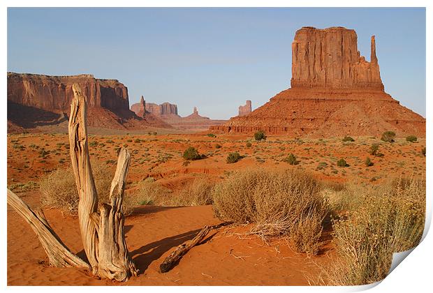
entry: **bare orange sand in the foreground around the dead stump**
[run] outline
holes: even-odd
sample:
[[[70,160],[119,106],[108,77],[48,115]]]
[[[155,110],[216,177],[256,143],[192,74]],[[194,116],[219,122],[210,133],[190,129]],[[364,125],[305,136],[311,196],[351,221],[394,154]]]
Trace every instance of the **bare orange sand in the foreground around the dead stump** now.
[[[31,202],[31,197],[24,197]],[[31,204],[36,205],[36,203]],[[66,245],[84,257],[78,218],[58,210],[45,216]],[[8,207],[8,285],[308,285],[305,272],[316,273],[314,262],[328,262],[328,253],[307,257],[293,253],[286,241],[271,246],[249,227],[223,227],[211,232],[168,273],[159,264],[176,246],[192,239],[204,225],[220,223],[212,206],[141,206],[126,218],[126,242],[138,277],[127,283],[98,280],[77,269],[47,266],[47,257],[31,227]],[[326,249],[325,249],[326,250]]]

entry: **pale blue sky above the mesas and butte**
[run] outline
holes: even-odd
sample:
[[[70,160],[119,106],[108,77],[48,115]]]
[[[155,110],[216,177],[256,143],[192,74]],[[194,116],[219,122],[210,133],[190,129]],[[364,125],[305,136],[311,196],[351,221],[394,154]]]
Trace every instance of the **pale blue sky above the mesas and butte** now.
[[[387,93],[425,117],[424,8],[8,8],[8,71],[91,73],[179,114],[237,115],[290,87],[291,43],[304,26],[355,29]]]

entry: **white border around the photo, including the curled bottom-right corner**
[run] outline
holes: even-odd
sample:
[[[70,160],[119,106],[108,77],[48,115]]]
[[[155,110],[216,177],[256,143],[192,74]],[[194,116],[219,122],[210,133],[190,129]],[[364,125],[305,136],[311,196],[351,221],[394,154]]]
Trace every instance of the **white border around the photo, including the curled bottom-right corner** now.
[[[220,0],[220,1],[198,1],[198,0],[190,0],[190,1],[175,1],[175,0],[161,0],[161,1],[136,1],[136,0],[122,0],[122,1],[90,1],[90,0],[75,0],[75,1],[52,1],[52,0],[43,0],[43,1],[11,1],[11,0],[3,0],[1,1],[1,17],[0,17],[0,33],[1,39],[3,39],[3,45],[1,47],[1,52],[3,58],[1,59],[1,66],[4,68],[3,74],[6,75],[7,72],[7,7],[31,7],[37,4],[37,7],[118,7],[118,6],[129,6],[129,7],[139,7],[139,6],[147,6],[147,7],[427,7],[427,75],[426,75],[426,95],[427,97],[431,96],[432,87],[430,86],[430,82],[432,82],[432,10],[431,4],[432,1],[427,0],[412,0],[412,1],[383,1],[383,0],[364,0],[364,1],[281,1],[281,0],[268,0],[268,1],[229,1],[229,0]],[[1,163],[3,165],[3,170],[7,170],[6,166],[6,77],[3,75],[3,79],[1,79],[1,103],[3,103],[3,107],[0,107],[1,113],[1,153],[0,156]],[[432,110],[432,103],[430,98],[427,98],[427,108],[426,108],[426,117],[430,117],[430,112]],[[427,149],[432,146],[432,139],[430,136],[431,129],[430,118],[427,118]],[[427,156],[427,166],[430,166],[432,163],[432,156]],[[430,168],[427,167],[427,227],[430,227],[431,216],[432,216],[432,186],[431,181],[432,172],[430,172]],[[1,186],[6,186],[6,172],[1,176]],[[6,191],[6,190],[5,190]],[[1,211],[6,211],[6,193],[4,193],[3,200],[1,200]],[[1,228],[2,232],[2,241],[0,242],[1,246],[1,262],[0,262],[0,285],[1,287],[6,286],[6,213],[2,213],[1,216]],[[381,282],[380,285],[373,287],[371,292],[427,292],[431,290],[431,266],[432,263],[432,236],[431,233],[427,234],[425,239],[420,245],[413,250],[404,263],[402,265],[397,266],[397,268],[390,273],[390,275]],[[211,264],[210,264],[211,265]],[[258,292],[262,290],[272,290],[273,292],[351,292],[353,290],[365,290],[367,287],[371,286],[361,286],[361,287],[207,287],[207,291],[217,292],[219,290],[237,290],[242,292]],[[427,289],[428,288],[428,289]],[[75,290],[91,290],[91,291],[99,291],[103,290],[106,292],[115,292],[115,290],[120,289],[117,286],[112,287],[62,287],[62,291],[66,292],[75,292]],[[203,290],[200,287],[122,287],[122,290],[136,291],[142,292],[167,292],[167,291],[176,291],[176,292],[198,292],[199,290]],[[8,287],[7,290],[16,292],[17,290],[22,290],[21,287]],[[27,288],[27,290],[32,290],[36,292],[55,292],[59,290],[59,287],[31,287]]]

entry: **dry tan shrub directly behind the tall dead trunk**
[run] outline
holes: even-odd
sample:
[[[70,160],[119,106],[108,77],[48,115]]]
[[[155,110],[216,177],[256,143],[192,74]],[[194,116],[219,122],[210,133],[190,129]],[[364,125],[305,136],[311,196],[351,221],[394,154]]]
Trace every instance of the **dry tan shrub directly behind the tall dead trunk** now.
[[[113,173],[98,162],[91,163],[98,201],[108,203]],[[59,168],[43,176],[40,183],[41,205],[76,214],[78,211],[78,191],[72,167]]]

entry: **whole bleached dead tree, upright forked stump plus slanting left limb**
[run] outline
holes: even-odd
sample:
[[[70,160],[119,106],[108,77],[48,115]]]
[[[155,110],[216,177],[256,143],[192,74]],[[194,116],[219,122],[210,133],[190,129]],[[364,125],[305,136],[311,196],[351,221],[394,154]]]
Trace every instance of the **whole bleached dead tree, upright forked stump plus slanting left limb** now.
[[[8,204],[31,225],[53,266],[76,266],[91,269],[96,276],[110,280],[126,281],[137,276],[138,269],[131,260],[124,234],[122,203],[126,175],[131,154],[122,148],[117,160],[115,176],[111,183],[110,204],[101,204],[98,213],[98,195],[91,172],[87,145],[85,96],[80,86],[73,84],[74,98],[69,118],[69,146],[71,161],[78,189],[78,219],[82,243],[89,264],[61,242],[42,213],[35,213],[20,197],[8,189]]]

